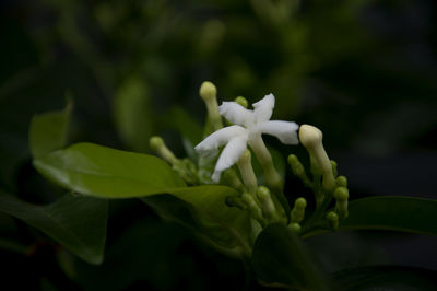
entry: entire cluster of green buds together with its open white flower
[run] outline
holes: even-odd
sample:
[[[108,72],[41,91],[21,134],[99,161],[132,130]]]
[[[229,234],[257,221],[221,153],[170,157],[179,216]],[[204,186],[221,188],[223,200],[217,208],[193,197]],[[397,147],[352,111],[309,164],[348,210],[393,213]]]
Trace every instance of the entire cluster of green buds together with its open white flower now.
[[[253,103],[253,109],[248,109],[248,102],[241,96],[218,106],[216,94],[214,84],[203,82],[200,96],[206,105],[208,119],[205,138],[194,148],[199,153],[198,164],[176,158],[160,137],[151,138],[151,148],[189,185],[223,184],[236,189],[240,196],[229,197],[226,203],[248,211],[261,226],[283,222],[288,223],[291,230],[300,232],[307,201],[299,197],[295,199],[293,209],[290,208],[283,193],[283,178],[262,135],[274,136],[285,144],[298,144],[300,140],[309,153],[311,177],[296,155],[288,156],[288,164],[315,194],[314,216],[324,216],[326,224],[332,230],[338,229],[340,219],[347,217],[347,182],[344,176],[338,176],[336,163],[329,160],[321,131],[309,125],[299,128],[296,123],[270,120],[275,103],[273,94]],[[228,126],[223,127],[222,117]],[[252,153],[262,167],[262,179],[255,174]],[[260,185],[260,181],[264,185]],[[334,209],[324,214],[332,198],[335,199]]]

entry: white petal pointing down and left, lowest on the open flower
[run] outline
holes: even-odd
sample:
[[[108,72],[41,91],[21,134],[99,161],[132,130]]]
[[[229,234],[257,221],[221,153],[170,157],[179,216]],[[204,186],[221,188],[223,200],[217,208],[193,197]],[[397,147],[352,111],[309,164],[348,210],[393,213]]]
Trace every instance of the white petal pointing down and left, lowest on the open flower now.
[[[248,136],[235,137],[229,140],[229,142],[223,149],[222,154],[215,164],[214,174],[212,175],[212,179],[215,183],[220,182],[222,172],[233,166],[238,161],[243,152],[247,149],[247,139]]]

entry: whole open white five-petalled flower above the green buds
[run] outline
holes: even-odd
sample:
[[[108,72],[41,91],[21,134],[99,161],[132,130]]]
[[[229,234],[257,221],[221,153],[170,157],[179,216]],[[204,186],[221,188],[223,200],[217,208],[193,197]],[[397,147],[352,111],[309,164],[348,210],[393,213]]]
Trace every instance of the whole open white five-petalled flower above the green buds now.
[[[252,104],[253,110],[246,109],[236,102],[223,102],[218,106],[220,114],[234,126],[222,128],[200,142],[194,149],[199,153],[208,154],[216,152],[222,146],[222,154],[214,168],[212,179],[220,182],[222,172],[234,165],[241,153],[246,150],[247,143],[251,143],[262,133],[276,137],[285,144],[297,144],[296,123],[270,120],[274,107],[273,94],[265,95],[262,100]]]

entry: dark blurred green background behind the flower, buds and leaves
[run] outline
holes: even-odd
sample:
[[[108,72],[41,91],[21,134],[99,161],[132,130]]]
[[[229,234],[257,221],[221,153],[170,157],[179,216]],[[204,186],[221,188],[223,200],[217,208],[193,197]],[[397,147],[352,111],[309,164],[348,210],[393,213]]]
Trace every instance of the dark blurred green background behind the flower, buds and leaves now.
[[[328,153],[350,181],[352,199],[437,198],[436,18],[433,0],[3,0],[0,187],[33,203],[57,199],[59,189],[32,166],[27,133],[34,114],[63,108],[67,96],[74,101],[72,142],[150,152],[149,137],[162,135],[185,155],[184,129],[203,124],[198,91],[210,80],[220,101],[243,95],[256,102],[273,93],[274,119],[321,128]],[[300,148],[267,140],[284,159],[292,152],[306,156]],[[291,173],[287,177],[290,191],[305,191]],[[240,290],[251,284],[240,261],[203,246],[137,200],[110,202],[99,267],[3,213],[0,234],[32,251],[0,244],[9,270],[1,277],[16,287]],[[308,244],[320,249],[320,242],[338,247],[343,265],[366,256],[368,264],[383,257],[437,270],[436,237],[363,232]],[[354,243],[352,253],[361,257],[345,258],[342,246]]]

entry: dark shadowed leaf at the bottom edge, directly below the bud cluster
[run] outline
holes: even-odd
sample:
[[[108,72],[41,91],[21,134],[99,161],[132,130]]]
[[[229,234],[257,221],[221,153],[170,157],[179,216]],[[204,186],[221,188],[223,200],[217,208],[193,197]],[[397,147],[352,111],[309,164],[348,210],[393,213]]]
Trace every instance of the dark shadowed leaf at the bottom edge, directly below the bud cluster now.
[[[258,278],[271,286],[328,290],[300,238],[282,223],[270,224],[258,236],[252,266]]]

